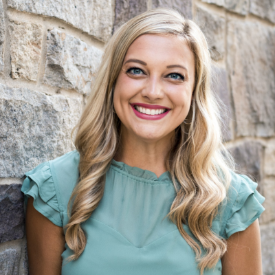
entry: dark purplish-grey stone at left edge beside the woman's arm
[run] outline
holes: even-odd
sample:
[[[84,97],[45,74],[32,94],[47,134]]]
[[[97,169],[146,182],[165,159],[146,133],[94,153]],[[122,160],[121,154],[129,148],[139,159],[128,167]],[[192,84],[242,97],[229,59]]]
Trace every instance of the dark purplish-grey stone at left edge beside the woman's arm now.
[[[23,238],[23,221],[21,185],[0,185],[0,243]]]

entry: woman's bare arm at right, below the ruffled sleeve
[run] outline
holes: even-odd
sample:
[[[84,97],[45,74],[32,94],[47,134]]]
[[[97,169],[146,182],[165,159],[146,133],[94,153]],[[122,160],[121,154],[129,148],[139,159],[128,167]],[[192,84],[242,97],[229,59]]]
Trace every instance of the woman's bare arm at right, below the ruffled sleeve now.
[[[227,240],[228,251],[221,259],[223,275],[262,275],[259,220]]]

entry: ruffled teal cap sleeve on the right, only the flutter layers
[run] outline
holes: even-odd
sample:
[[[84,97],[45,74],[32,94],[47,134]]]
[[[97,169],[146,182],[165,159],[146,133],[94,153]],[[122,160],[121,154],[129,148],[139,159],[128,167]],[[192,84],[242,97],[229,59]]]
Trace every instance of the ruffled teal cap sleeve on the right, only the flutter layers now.
[[[232,194],[236,199],[229,211],[223,235],[228,239],[235,232],[248,228],[265,210],[265,198],[256,190],[258,184],[245,175],[237,175],[238,184],[232,184]],[[236,179],[236,177],[235,177]]]

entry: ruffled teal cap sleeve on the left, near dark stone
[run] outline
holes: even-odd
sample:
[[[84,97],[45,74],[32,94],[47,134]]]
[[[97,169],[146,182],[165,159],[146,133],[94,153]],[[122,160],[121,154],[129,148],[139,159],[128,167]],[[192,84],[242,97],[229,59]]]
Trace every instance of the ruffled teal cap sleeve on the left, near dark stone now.
[[[33,170],[25,173],[21,191],[24,193],[25,203],[29,197],[34,198],[34,208],[47,219],[58,226],[63,226],[61,212],[58,206],[56,188],[52,178],[49,162],[40,164]]]

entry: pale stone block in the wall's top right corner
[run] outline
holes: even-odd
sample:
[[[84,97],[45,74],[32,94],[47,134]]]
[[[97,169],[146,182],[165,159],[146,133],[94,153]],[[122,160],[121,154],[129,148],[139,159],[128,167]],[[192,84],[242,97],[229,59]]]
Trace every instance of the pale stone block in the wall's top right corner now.
[[[250,0],[250,13],[275,23],[275,1]]]

